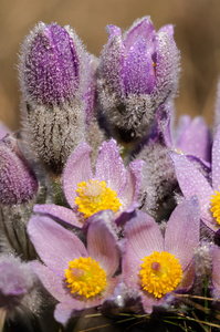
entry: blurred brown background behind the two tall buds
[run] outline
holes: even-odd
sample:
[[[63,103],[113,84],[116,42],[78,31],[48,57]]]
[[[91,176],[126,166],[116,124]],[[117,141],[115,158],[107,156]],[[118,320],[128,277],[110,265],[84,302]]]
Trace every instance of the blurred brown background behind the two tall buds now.
[[[211,124],[220,74],[220,0],[0,0],[0,121],[19,128],[18,54],[35,23],[70,24],[98,56],[106,24],[125,30],[144,15],[156,30],[175,24],[182,68],[177,115],[202,114]]]

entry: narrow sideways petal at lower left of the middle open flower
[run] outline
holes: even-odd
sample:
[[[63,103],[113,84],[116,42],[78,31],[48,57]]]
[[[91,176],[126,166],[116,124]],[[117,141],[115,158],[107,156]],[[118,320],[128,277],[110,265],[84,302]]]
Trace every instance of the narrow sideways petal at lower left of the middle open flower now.
[[[35,205],[34,212],[49,215],[49,217],[56,218],[62,222],[82,228],[82,222],[77,219],[73,210],[55,204]]]

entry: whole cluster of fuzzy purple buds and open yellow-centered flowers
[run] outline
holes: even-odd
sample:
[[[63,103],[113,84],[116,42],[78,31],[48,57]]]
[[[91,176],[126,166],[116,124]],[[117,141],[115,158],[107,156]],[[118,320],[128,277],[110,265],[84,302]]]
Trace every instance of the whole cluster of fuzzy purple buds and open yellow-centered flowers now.
[[[182,294],[203,292],[218,308],[219,102],[214,134],[202,117],[175,126],[174,27],[145,17],[107,32],[99,59],[56,23],[21,48],[22,128],[0,125],[6,329],[182,313]]]

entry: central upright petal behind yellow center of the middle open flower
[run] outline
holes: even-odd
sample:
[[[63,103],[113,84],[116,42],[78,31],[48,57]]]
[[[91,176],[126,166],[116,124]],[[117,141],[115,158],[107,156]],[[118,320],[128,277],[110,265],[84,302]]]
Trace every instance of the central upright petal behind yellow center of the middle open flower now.
[[[126,169],[114,139],[103,142],[95,168],[95,178],[99,181],[105,180],[107,187],[111,187],[117,193],[117,196],[121,196],[121,190],[126,183]]]

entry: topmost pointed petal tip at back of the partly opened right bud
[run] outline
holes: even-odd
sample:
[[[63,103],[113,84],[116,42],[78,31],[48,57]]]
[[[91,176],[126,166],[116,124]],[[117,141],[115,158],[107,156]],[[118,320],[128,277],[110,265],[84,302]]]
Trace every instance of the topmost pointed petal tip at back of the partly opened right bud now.
[[[124,39],[126,54],[139,38],[143,38],[145,40],[149,53],[153,54],[155,52],[153,48],[153,42],[155,39],[155,28],[149,17],[145,17],[142,20],[136,20],[127,31]]]

